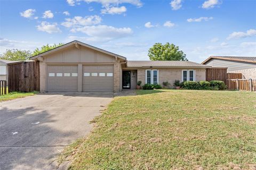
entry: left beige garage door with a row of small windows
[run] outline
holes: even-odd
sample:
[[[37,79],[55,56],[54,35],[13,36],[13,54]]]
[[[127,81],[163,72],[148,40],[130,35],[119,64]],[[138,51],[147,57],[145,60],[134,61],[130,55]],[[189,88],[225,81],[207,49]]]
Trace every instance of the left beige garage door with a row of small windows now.
[[[77,91],[77,65],[47,65],[47,91]]]

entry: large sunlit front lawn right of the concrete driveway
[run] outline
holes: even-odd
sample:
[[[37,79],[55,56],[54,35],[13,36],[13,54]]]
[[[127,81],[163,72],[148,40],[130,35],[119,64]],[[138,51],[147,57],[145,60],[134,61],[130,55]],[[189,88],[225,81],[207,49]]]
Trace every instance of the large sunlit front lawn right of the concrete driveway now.
[[[65,149],[70,169],[249,169],[256,165],[256,94],[138,90],[115,97],[89,137]]]

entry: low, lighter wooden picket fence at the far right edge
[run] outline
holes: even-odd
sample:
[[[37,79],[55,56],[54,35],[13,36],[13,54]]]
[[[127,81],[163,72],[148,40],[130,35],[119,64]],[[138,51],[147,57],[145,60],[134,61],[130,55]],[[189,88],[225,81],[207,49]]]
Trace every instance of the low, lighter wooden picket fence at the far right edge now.
[[[256,91],[256,80],[253,79],[228,79],[228,90]]]

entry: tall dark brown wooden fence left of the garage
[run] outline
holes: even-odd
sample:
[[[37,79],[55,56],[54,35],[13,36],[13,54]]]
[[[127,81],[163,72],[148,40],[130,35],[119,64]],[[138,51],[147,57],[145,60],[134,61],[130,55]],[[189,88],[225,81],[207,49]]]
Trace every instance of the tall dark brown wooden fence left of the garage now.
[[[23,61],[8,64],[8,89],[12,91],[39,91],[39,62]]]

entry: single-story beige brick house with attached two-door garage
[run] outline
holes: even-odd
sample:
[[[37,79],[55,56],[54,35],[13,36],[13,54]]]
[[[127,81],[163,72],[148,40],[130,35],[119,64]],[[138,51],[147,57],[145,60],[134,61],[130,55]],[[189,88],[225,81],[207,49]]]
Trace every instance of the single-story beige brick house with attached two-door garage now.
[[[188,61],[127,61],[126,57],[71,41],[31,57],[39,62],[41,92],[135,89],[137,81],[162,84],[205,80],[207,66]]]

